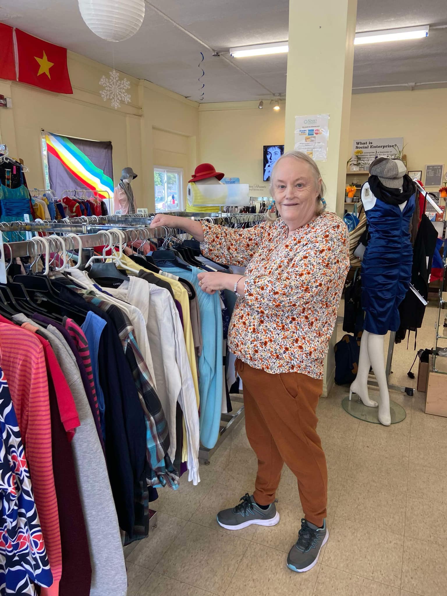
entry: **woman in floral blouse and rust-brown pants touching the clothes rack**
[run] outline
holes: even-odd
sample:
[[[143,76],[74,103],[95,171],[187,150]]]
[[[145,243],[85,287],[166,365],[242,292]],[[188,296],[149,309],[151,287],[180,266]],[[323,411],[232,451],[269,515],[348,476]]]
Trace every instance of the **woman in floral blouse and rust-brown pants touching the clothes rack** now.
[[[305,517],[288,567],[312,569],[329,533],[327,468],[316,432],[324,358],[349,270],[346,225],[324,212],[324,184],[317,164],[289,151],[275,163],[271,194],[275,222],[230,229],[157,215],[152,226],[182,228],[217,262],[245,266],[245,275],[204,272],[207,293],[233,290],[238,300],[228,347],[243,381],[247,437],[257,455],[255,489],[220,511],[222,527],[274,526],[280,520],[275,492],[285,463],[297,477]]]

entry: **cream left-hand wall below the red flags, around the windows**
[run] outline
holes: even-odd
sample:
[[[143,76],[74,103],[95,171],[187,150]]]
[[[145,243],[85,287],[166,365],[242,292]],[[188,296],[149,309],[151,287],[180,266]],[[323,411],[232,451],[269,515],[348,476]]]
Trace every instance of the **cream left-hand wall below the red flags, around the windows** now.
[[[131,83],[132,99],[131,103],[114,110],[109,101],[101,98],[98,84],[101,76],[108,76],[110,67],[73,52],[68,52],[68,66],[73,95],[54,94],[0,80],[0,94],[13,100],[11,109],[0,110],[0,142],[7,144],[10,154],[21,157],[29,167],[29,187],[44,188],[42,129],[111,141],[114,184],[118,184],[123,167],[131,166],[138,173],[133,183],[137,204],[153,211],[154,151],[165,148],[163,137],[154,132],[154,128],[182,139],[182,151],[171,151],[166,165],[183,167],[189,173],[197,161],[198,104],[153,83],[120,73]]]

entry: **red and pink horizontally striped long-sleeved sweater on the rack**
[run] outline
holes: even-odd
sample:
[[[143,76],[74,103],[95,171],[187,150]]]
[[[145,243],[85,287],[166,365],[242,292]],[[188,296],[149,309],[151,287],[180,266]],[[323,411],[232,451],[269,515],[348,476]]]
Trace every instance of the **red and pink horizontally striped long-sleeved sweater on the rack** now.
[[[8,379],[57,594],[62,555],[44,348],[35,334],[1,315],[0,366]]]

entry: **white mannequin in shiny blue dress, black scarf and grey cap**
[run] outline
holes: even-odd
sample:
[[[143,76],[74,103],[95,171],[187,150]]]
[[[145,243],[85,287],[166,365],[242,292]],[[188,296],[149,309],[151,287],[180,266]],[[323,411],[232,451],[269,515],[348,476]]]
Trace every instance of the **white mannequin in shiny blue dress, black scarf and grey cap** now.
[[[379,178],[371,175],[362,187],[361,195],[370,239],[362,260],[364,332],[358,373],[350,386],[349,399],[356,393],[366,406],[378,406],[378,420],[389,426],[390,397],[384,339],[388,331],[399,328],[398,307],[411,281],[413,250],[409,224],[415,209],[415,193],[408,176],[403,178],[406,168],[400,160],[378,158],[370,165],[370,173],[374,172],[378,172]],[[378,196],[373,194],[371,187]],[[370,367],[373,367],[379,387],[379,403],[368,395]]]

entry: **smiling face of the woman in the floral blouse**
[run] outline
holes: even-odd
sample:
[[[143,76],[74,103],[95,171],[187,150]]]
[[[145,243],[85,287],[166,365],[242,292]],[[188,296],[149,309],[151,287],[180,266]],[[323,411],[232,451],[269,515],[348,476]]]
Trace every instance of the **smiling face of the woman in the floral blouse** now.
[[[321,179],[315,179],[312,166],[294,157],[285,157],[275,166],[274,199],[290,230],[307,224],[316,215],[316,198]]]

